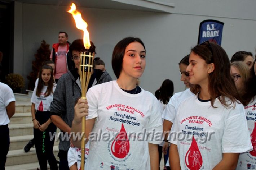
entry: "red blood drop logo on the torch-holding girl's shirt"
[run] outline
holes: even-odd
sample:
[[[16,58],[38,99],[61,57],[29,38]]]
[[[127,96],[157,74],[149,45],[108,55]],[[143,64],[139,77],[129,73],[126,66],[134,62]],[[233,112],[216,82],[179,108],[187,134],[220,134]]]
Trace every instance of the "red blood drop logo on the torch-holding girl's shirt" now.
[[[128,155],[129,150],[130,142],[128,140],[124,125],[122,124],[119,134],[116,136],[111,144],[111,152],[115,157],[122,159]]]

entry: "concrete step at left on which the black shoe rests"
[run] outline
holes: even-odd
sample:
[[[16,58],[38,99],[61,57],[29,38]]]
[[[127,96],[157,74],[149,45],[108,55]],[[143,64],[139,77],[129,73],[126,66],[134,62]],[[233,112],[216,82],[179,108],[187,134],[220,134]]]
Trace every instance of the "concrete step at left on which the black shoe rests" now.
[[[53,147],[53,153],[57,158],[59,149],[58,146]],[[7,154],[7,160],[5,166],[11,165],[19,165],[19,164],[28,164],[38,162],[36,150],[35,148],[31,148],[31,150],[27,153],[24,152],[23,149],[20,150],[12,150]],[[20,170],[19,168],[17,170]]]

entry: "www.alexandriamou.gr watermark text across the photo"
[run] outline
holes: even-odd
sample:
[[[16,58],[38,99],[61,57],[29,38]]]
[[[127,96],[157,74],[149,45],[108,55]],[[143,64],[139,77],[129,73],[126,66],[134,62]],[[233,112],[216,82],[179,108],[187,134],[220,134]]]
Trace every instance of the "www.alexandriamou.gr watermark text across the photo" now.
[[[198,132],[198,131],[180,131],[180,132],[156,132],[155,129],[152,131],[147,131],[143,129],[142,132],[129,132],[128,134],[125,132],[107,132],[102,129],[98,130],[98,132],[91,132],[89,134],[88,141],[114,141],[114,140],[129,140],[129,141],[163,141],[164,136],[168,135],[168,141],[171,139],[173,141],[192,141],[192,137],[194,136],[196,141],[199,143],[206,143],[206,141],[210,141],[212,135],[215,132]],[[73,141],[81,141],[84,133],[75,133],[71,132],[70,134],[67,132],[54,132],[53,134],[49,132],[50,140],[62,140],[62,141],[69,141],[72,139]]]

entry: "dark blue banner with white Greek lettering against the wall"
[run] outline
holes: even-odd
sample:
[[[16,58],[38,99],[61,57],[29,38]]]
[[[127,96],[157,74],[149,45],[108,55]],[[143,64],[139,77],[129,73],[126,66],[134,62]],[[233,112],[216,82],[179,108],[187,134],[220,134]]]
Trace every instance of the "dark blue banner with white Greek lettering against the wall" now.
[[[208,40],[221,45],[223,22],[217,20],[204,20],[199,26],[198,44]]]

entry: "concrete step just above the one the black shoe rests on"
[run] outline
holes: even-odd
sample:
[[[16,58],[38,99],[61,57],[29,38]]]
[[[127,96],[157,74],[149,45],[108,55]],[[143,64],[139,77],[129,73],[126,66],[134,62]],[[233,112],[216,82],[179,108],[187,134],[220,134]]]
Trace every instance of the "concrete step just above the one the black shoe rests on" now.
[[[25,135],[25,136],[13,136],[10,137],[10,150],[19,150],[23,149],[24,146],[30,141],[31,139],[34,138],[34,135]],[[59,140],[54,142],[54,145],[58,145]]]

